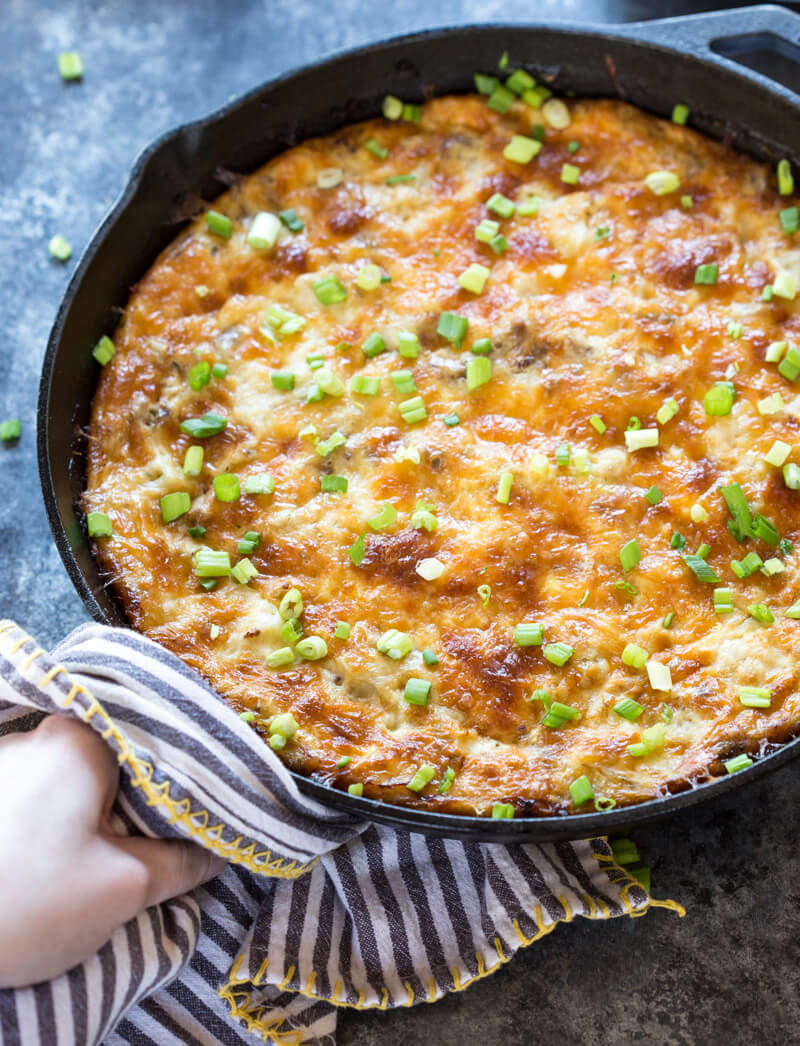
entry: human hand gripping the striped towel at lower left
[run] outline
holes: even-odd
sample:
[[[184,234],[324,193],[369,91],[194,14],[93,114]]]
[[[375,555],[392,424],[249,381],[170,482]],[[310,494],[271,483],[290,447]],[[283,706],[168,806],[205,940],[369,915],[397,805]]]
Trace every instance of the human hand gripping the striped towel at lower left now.
[[[0,738],[0,987],[64,973],[225,867],[188,841],[117,835],[118,781],[112,750],[75,720]]]

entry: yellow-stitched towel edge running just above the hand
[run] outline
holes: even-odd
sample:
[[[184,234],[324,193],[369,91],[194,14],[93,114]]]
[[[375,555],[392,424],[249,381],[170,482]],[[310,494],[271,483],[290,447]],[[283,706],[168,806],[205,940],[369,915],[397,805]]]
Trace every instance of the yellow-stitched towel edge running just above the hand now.
[[[14,640],[12,645],[3,651],[6,656],[17,654],[26,642],[32,642],[31,637],[23,632],[14,621],[0,621],[0,638],[9,638],[9,633],[14,631],[22,633],[22,638]],[[33,664],[33,661],[43,654],[43,650],[35,650],[21,665],[18,665],[18,668],[21,672],[27,672]],[[30,682],[38,686],[40,690],[46,692],[45,688],[56,676],[62,674],[71,682],[69,672],[61,664],[53,665],[38,682],[36,680],[30,680]],[[174,799],[169,795],[169,781],[164,781],[163,784],[154,783],[155,767],[153,764],[136,755],[124,734],[121,733],[99,701],[97,701],[86,686],[82,683],[73,682],[69,693],[61,701],[62,707],[65,709],[70,708],[78,695],[84,695],[87,701],[87,706],[78,714],[85,723],[90,723],[95,717],[99,717],[104,724],[100,733],[105,738],[112,737],[114,740],[118,748],[117,759],[120,766],[128,767],[131,772],[131,783],[145,795],[147,805],[166,810],[169,814],[169,820],[173,823],[180,824],[187,836],[198,840],[206,849],[213,850],[214,854],[219,854],[228,861],[244,865],[257,876],[265,876],[271,879],[297,879],[317,863],[316,858],[307,864],[299,864],[297,861],[284,861],[282,858],[273,858],[271,850],[256,852],[254,843],[250,843],[248,846],[241,845],[242,836],[230,843],[222,842],[220,837],[225,829],[225,824],[218,822],[209,827],[209,822],[212,818],[207,810],[202,808],[192,810],[189,800]],[[53,695],[51,693],[48,693],[47,697],[51,700],[53,699]],[[58,698],[55,700],[58,701]],[[271,1034],[275,1034],[275,1032],[271,1032]],[[280,1041],[282,1042],[283,1040]],[[292,1042],[294,1041],[292,1040]]]

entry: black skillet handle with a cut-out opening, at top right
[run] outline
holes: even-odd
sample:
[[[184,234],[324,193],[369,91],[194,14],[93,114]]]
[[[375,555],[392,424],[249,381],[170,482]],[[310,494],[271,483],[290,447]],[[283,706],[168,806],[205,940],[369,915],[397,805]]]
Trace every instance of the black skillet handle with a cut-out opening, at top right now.
[[[619,26],[621,36],[646,40],[696,58],[712,58],[796,103],[800,98],[800,15],[774,4],[729,8]]]

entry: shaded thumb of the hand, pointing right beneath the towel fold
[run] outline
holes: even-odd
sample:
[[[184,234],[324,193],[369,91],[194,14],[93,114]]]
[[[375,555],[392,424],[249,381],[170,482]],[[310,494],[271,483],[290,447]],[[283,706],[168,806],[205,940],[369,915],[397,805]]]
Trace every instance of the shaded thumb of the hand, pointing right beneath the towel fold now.
[[[115,839],[116,846],[140,866],[143,890],[141,908],[188,893],[219,876],[227,862],[184,839],[146,839],[129,836]]]

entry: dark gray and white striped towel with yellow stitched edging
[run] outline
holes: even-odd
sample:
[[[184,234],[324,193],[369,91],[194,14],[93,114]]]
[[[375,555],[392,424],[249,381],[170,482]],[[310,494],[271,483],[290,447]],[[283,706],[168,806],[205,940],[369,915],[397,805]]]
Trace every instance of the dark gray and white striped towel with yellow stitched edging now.
[[[79,717],[115,750],[129,831],[229,859],[52,981],[0,992],[0,1043],[333,1044],[336,1007],[431,1002],[575,915],[653,902],[601,839],[462,843],[355,821],[301,795],[190,668],[88,624],[50,656],[0,622],[0,735]],[[677,907],[677,906],[672,906]]]

